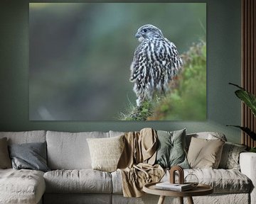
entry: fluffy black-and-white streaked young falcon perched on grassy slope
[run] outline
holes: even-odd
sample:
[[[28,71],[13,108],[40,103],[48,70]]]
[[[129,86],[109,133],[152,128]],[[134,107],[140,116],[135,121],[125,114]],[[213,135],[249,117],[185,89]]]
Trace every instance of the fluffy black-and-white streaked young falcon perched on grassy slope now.
[[[156,91],[164,93],[182,61],[173,42],[164,38],[159,28],[144,25],[138,29],[139,46],[131,64],[131,81],[137,95],[137,106],[151,100]]]

